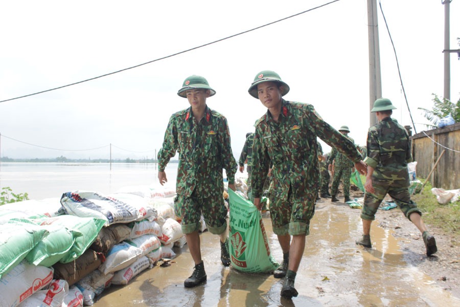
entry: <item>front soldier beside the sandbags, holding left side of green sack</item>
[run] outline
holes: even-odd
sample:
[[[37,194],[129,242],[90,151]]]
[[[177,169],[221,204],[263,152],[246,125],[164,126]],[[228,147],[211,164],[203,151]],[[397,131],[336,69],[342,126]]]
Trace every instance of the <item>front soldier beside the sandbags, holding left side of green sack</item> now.
[[[226,118],[206,105],[206,98],[216,94],[208,81],[190,76],[177,94],[187,98],[190,107],[173,114],[169,120],[163,147],[158,152],[158,180],[162,185],[168,181],[165,167],[179,152],[174,209],[182,220],[182,231],[195,262],[193,274],[184,286],[195,287],[206,280],[198,233],[201,214],[208,230],[220,236],[222,264],[230,265],[222,168],[228,187],[235,190],[237,164]]]

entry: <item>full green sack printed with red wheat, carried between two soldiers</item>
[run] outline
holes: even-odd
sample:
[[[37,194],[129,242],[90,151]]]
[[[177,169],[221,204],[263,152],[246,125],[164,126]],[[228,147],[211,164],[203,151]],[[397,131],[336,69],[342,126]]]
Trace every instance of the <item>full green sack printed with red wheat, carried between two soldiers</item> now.
[[[260,211],[233,190],[228,193],[232,266],[247,273],[273,272],[280,265],[271,255]]]

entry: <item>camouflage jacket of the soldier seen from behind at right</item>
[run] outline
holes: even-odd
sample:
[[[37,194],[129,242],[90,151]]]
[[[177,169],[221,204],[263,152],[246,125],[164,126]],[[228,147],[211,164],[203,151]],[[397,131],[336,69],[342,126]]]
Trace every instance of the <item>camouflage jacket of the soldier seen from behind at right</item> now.
[[[373,183],[409,186],[407,163],[412,162],[409,144],[407,130],[390,117],[369,128],[364,162],[374,168]]]

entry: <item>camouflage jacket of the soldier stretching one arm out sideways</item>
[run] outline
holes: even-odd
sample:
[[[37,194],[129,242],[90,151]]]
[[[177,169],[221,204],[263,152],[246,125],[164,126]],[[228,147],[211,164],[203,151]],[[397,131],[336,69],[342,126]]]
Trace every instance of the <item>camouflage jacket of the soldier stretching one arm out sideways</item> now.
[[[349,157],[360,161],[354,144],[325,122],[314,107],[283,99],[278,122],[269,111],[256,124],[252,147],[252,195],[261,196],[264,179],[271,163],[270,194],[286,200],[291,190],[294,198],[319,189],[319,166],[316,137]]]

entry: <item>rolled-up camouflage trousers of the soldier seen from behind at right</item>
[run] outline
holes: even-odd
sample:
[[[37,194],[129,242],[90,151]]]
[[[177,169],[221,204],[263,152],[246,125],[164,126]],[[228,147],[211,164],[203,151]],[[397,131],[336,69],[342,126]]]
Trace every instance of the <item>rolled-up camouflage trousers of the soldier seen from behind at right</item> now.
[[[417,208],[417,204],[410,200],[410,194],[407,187],[392,187],[385,185],[373,184],[374,193],[366,192],[364,194],[364,205],[362,206],[361,218],[363,220],[374,221],[375,213],[377,212],[380,203],[385,198],[386,194],[390,195],[398,208],[409,218],[412,212],[417,212],[422,215],[422,211]],[[410,219],[409,219],[410,220]]]

